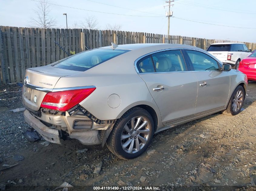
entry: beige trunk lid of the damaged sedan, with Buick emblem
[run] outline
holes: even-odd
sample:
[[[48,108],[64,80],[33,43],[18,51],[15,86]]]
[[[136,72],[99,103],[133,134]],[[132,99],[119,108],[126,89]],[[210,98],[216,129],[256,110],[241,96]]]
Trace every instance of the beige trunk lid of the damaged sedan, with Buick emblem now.
[[[51,91],[61,77],[74,75],[79,71],[66,70],[52,65],[28,68],[25,72],[25,80],[22,88],[22,102],[28,109],[38,111],[47,91]]]

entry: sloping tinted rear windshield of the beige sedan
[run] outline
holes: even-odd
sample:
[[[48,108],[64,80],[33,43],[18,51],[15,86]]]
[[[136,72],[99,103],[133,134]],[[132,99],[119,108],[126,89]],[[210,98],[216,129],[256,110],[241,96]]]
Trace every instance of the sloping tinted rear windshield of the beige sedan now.
[[[75,71],[86,71],[96,65],[106,62],[116,56],[126,53],[130,50],[123,49],[92,49],[76,54],[55,65],[56,68],[62,68]]]

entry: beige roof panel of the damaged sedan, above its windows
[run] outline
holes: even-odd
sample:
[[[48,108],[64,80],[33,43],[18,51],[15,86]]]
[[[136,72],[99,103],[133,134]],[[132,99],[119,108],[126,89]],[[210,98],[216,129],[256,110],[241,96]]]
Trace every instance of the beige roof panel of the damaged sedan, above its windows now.
[[[155,49],[172,49],[172,48],[189,48],[189,49],[200,49],[195,46],[183,45],[183,44],[167,44],[167,43],[138,43],[138,44],[122,44],[112,48],[112,46],[104,46],[102,49],[126,49],[136,50],[142,48],[155,48]],[[200,49],[202,50],[202,49]]]

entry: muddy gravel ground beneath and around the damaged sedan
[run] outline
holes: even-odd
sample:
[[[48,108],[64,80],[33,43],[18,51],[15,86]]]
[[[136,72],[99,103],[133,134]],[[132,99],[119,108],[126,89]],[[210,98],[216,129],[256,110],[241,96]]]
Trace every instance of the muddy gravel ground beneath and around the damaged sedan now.
[[[244,110],[215,113],[159,132],[147,152],[121,160],[101,146],[76,140],[62,145],[29,142],[21,87],[0,86],[0,190],[53,190],[68,182],[72,190],[95,186],[159,186],[160,190],[256,190],[256,82],[249,82]],[[78,149],[88,151],[78,153]],[[22,161],[15,161],[22,155]],[[4,169],[2,165],[15,167]],[[94,173],[96,166],[99,173]],[[254,185],[254,186],[253,186]],[[62,189],[58,189],[62,190]]]

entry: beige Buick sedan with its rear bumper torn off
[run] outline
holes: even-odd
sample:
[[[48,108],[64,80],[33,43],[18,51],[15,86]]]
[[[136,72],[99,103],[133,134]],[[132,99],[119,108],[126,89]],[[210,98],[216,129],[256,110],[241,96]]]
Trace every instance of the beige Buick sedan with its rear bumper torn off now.
[[[127,44],[28,68],[25,121],[45,140],[107,145],[141,155],[154,133],[223,112],[240,112],[247,77],[194,46]]]

